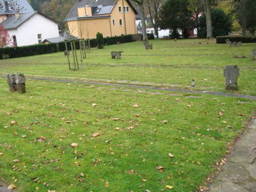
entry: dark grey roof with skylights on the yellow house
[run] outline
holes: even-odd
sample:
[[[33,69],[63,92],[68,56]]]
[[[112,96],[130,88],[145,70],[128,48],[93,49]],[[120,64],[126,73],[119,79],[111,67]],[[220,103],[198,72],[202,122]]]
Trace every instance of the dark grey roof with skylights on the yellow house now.
[[[129,5],[133,8],[135,14],[137,14],[137,10],[134,8],[130,0],[126,0]],[[118,0],[77,0],[75,5],[70,10],[69,14],[67,15],[66,19],[70,20],[76,19],[78,17],[77,9],[80,7],[85,7],[86,5],[92,7],[92,16],[102,15],[102,14],[110,14],[115,7]],[[100,8],[98,12],[96,10]]]

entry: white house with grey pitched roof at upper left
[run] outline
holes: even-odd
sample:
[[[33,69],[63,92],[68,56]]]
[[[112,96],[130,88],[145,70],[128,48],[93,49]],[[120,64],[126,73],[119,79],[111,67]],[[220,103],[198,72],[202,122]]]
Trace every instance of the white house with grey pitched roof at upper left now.
[[[24,0],[17,2],[25,3]],[[6,18],[3,17],[4,12],[2,12],[4,19],[1,25],[12,37],[13,46],[34,45],[41,43],[46,38],[59,36],[58,24],[51,17],[34,11],[29,4],[26,4],[26,11],[15,13],[9,9],[7,3],[8,1],[5,1]]]

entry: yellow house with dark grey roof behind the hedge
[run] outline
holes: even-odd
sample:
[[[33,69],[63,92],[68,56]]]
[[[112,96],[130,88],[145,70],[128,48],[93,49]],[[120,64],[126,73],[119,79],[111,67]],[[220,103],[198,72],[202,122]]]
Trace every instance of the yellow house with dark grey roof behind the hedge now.
[[[130,0],[76,0],[66,22],[78,38],[113,37],[136,34],[136,14]]]

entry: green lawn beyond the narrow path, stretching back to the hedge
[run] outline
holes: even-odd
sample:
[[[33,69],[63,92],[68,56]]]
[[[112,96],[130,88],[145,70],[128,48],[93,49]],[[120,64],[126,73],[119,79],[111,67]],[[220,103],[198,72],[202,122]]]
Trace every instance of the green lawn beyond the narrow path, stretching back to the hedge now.
[[[217,45],[215,40],[204,39],[151,42],[153,50],[145,50],[142,42],[105,46],[102,50],[93,48],[88,58],[83,59],[84,68],[80,66],[79,71],[68,70],[67,57],[62,52],[1,60],[0,74],[23,72],[29,77],[147,84],[180,89],[191,89],[191,79],[194,78],[195,90],[226,92],[223,69],[227,65],[238,65],[239,91],[234,93],[256,95],[256,62],[251,57],[255,44],[227,48],[223,44]],[[202,45],[198,42],[202,42]],[[113,50],[122,50],[122,59],[111,59]],[[246,58],[233,58],[234,55]]]

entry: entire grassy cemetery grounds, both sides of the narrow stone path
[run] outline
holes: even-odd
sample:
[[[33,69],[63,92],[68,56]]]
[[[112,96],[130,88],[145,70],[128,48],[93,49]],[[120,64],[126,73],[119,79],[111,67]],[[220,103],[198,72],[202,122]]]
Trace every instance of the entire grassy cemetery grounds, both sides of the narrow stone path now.
[[[204,186],[256,106],[252,99],[207,93],[256,95],[255,44],[151,43],[153,50],[142,42],[93,48],[82,63],[77,50],[78,71],[68,70],[63,52],[0,60],[0,179],[19,191]],[[123,51],[121,59],[111,59],[111,51]],[[240,68],[238,91],[224,89],[227,65]],[[30,78],[27,93],[11,93],[5,76],[20,72]]]

